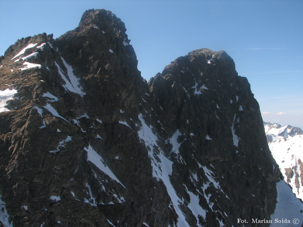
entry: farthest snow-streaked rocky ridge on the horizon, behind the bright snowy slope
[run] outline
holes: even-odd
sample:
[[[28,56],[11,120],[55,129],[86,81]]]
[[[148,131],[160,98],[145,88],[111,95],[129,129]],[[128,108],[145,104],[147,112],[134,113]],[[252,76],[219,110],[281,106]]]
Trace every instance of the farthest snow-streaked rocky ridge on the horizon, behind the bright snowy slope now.
[[[275,141],[288,136],[303,135],[301,128],[286,125],[282,127],[278,123],[271,124],[263,121],[267,141]]]

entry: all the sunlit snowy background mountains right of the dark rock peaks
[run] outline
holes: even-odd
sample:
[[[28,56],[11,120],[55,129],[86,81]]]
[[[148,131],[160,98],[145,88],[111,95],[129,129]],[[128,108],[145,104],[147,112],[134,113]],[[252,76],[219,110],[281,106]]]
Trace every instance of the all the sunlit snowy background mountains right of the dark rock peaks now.
[[[303,199],[303,131],[298,127],[264,122],[269,149],[285,182],[297,198]]]

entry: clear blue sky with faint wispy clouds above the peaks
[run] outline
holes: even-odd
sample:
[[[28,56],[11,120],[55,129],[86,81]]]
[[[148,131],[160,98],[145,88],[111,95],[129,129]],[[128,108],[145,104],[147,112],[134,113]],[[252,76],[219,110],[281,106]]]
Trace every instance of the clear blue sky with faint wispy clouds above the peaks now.
[[[188,52],[225,50],[248,78],[264,121],[303,129],[303,1],[0,1],[0,55],[17,39],[54,38],[104,8],[127,28],[149,80]]]

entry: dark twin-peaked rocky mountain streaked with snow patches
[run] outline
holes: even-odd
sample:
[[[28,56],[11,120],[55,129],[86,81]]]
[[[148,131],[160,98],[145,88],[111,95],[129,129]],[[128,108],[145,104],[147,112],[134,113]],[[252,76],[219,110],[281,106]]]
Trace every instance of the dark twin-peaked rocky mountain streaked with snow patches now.
[[[270,219],[280,175],[258,103],[233,60],[199,49],[147,84],[125,31],[111,12],[89,10],[75,30],[56,40],[21,39],[0,58],[0,90],[18,91],[5,104],[11,111],[0,113],[7,221],[242,226],[238,218]]]

